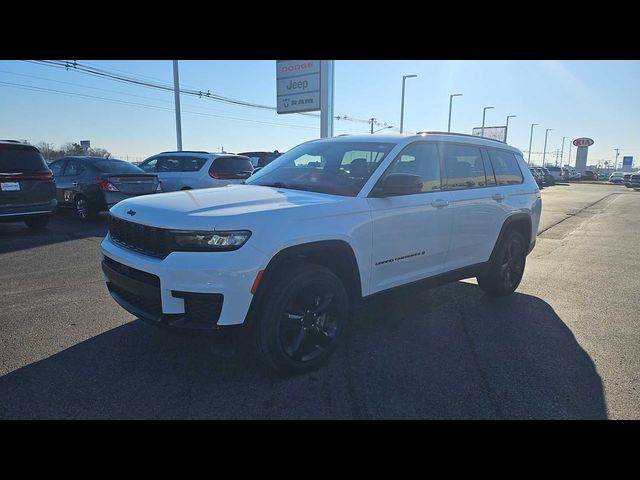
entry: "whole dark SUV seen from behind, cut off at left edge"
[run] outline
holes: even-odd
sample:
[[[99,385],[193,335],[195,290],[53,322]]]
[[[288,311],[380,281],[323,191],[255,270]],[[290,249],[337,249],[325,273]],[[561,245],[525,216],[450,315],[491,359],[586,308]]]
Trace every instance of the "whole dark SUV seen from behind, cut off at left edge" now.
[[[42,228],[56,205],[53,174],[40,151],[16,141],[0,141],[0,222]]]

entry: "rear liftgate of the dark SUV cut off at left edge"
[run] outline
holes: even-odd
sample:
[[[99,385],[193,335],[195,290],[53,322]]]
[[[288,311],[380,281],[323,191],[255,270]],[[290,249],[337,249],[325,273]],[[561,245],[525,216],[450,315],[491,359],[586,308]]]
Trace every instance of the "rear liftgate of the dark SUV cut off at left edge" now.
[[[0,207],[48,203],[53,176],[40,152],[28,145],[0,145]]]

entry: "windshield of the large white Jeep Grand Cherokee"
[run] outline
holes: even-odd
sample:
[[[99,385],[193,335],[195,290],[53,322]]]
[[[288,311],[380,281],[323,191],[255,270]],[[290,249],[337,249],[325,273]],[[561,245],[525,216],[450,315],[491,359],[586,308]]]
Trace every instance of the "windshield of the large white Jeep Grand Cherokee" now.
[[[320,141],[299,145],[246,183],[355,197],[393,143]]]

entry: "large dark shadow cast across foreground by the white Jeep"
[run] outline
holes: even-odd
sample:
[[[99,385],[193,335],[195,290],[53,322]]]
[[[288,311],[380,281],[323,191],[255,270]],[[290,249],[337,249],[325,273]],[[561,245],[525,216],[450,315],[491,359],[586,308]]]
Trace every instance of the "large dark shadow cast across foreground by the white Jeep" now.
[[[550,305],[467,282],[370,301],[312,374],[134,320],[0,378],[3,419],[606,417],[594,364]]]

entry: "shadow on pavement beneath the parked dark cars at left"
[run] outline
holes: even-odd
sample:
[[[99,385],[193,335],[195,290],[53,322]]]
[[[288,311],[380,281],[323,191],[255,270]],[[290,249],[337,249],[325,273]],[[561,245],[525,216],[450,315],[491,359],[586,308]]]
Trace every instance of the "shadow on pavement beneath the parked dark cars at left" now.
[[[103,238],[107,233],[107,220],[108,214],[101,213],[95,220],[83,223],[73,211],[60,208],[40,230],[30,229],[23,222],[0,223],[0,254],[79,238]]]

